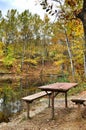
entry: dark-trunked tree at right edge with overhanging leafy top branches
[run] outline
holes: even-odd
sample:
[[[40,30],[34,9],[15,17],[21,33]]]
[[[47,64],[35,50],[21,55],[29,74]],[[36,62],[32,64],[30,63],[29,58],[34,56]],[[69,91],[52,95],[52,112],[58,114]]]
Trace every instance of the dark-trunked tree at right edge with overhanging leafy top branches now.
[[[54,6],[55,3],[57,8]],[[84,32],[84,74],[86,77],[86,0],[41,0],[40,5],[56,18],[81,20]],[[66,13],[67,9],[70,11],[69,14]]]

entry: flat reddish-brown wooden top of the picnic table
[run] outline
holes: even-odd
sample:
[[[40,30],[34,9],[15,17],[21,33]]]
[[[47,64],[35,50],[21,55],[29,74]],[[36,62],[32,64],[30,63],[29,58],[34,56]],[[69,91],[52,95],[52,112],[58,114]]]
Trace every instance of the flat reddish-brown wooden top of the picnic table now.
[[[41,90],[45,90],[45,91],[68,91],[69,89],[77,86],[78,83],[68,83],[68,82],[61,82],[61,83],[53,83],[53,84],[49,84],[49,85],[44,85],[40,88]]]

